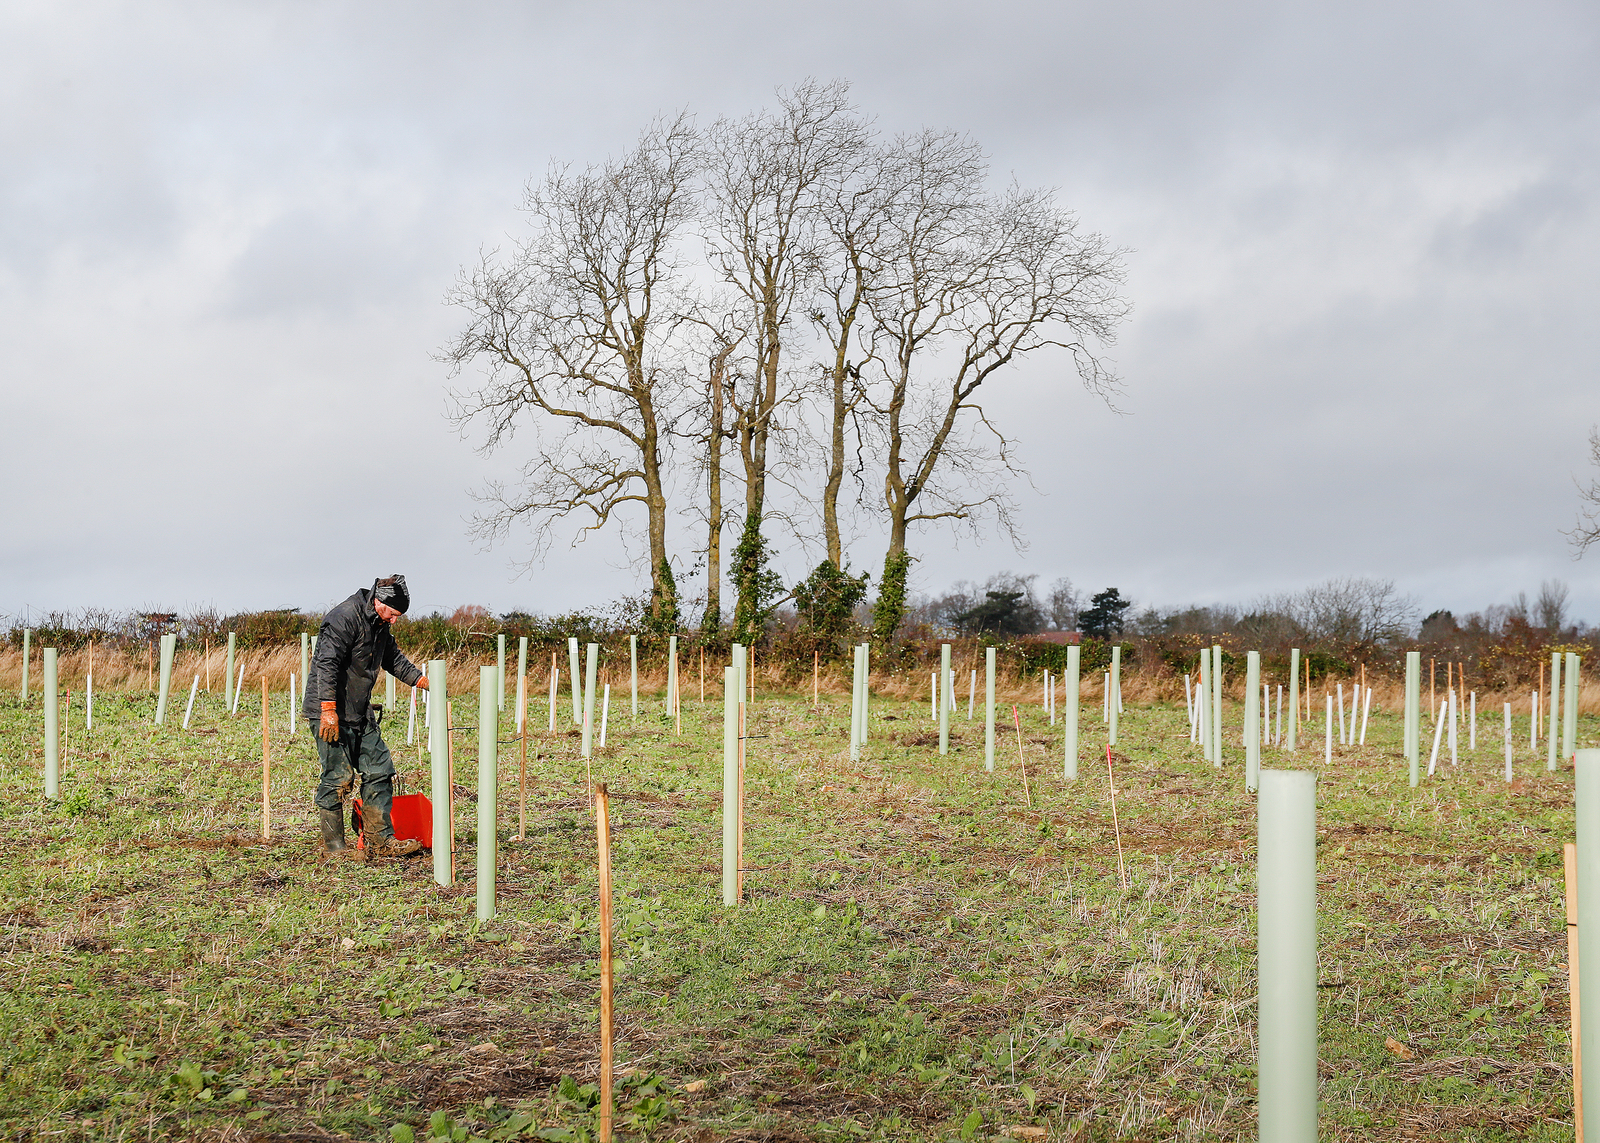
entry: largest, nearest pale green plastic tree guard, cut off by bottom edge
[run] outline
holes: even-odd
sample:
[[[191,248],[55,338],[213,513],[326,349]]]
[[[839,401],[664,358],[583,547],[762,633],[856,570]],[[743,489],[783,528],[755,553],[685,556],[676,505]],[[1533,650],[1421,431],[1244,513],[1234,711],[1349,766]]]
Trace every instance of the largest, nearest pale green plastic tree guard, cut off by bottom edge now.
[[[1317,1143],[1317,775],[1262,770],[1256,802],[1261,1143]]]

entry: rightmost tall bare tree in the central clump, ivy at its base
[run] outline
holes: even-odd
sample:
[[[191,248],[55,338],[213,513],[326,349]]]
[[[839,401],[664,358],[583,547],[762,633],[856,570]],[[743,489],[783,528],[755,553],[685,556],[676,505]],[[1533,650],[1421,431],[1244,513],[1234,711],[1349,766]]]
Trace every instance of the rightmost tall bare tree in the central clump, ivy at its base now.
[[[1120,251],[1080,234],[1050,192],[986,194],[981,150],[949,131],[901,139],[896,150],[909,176],[891,219],[894,247],[870,291],[890,523],[874,615],[880,639],[899,626],[912,525],[987,514],[1011,530],[997,477],[1019,472],[1011,440],[976,400],[979,387],[1056,347],[1090,392],[1109,399],[1117,381],[1091,344],[1110,344],[1128,312]]]

